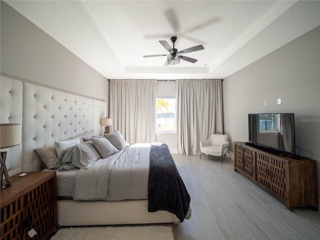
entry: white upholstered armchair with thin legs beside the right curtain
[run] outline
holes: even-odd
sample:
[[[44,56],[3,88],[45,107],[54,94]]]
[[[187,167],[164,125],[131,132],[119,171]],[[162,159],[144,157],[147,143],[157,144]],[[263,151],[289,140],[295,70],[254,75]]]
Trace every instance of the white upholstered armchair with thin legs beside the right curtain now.
[[[226,134],[215,134],[212,133],[210,135],[210,139],[206,139],[204,141],[200,141],[200,159],[202,153],[212,156],[222,156],[221,158],[221,164],[223,162],[223,154],[226,152],[229,153],[230,158],[230,152],[229,152],[229,142],[228,142],[228,136]]]

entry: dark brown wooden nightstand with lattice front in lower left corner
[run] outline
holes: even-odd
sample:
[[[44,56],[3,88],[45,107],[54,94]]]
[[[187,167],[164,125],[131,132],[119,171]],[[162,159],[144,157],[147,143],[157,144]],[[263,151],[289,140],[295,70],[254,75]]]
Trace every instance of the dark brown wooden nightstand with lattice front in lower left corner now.
[[[0,192],[1,240],[45,240],[56,233],[55,171],[26,172],[10,180],[12,185]]]

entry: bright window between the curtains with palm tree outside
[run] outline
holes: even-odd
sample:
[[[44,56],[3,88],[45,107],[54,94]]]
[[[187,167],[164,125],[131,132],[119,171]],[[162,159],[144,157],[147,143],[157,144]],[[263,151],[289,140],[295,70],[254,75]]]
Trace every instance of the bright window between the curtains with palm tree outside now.
[[[175,132],[175,96],[156,96],[155,132]]]

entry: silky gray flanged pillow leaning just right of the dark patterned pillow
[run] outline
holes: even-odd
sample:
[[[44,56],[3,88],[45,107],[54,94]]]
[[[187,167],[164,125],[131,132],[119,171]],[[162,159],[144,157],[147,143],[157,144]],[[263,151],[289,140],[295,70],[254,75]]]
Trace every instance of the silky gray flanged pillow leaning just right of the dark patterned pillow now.
[[[73,146],[71,152],[63,157],[62,162],[72,162],[72,165],[87,169],[99,158],[101,155],[95,149],[92,141],[85,141]]]

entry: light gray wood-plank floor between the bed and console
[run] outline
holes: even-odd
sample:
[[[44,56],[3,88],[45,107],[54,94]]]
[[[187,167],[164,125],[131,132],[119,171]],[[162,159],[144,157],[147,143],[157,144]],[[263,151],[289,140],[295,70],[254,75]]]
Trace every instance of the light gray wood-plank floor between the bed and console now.
[[[191,196],[192,216],[176,240],[320,239],[320,211],[284,203],[233,170],[233,160],[172,154]]]

